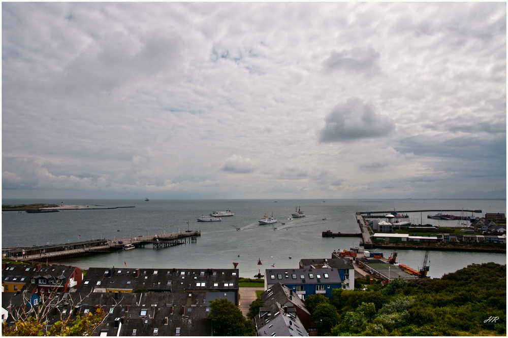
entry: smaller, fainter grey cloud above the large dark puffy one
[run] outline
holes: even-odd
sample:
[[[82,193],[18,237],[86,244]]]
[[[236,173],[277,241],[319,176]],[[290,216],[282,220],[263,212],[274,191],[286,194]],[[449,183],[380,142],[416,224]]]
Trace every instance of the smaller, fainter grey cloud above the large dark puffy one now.
[[[332,50],[330,57],[323,61],[325,72],[343,71],[376,75],[381,72],[379,67],[379,52],[373,48],[343,49],[340,52]]]

